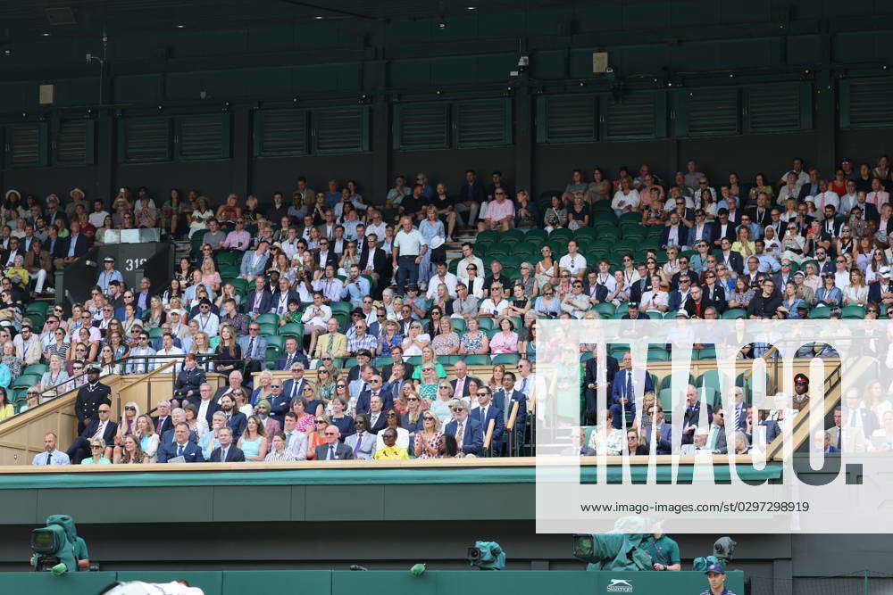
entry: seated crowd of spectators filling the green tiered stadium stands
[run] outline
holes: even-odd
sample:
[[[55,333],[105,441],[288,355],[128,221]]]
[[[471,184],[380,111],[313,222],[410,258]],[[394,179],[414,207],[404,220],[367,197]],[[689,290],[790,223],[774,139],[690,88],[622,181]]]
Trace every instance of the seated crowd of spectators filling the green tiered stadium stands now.
[[[353,181],[316,192],[305,178],[289,201],[230,194],[216,209],[195,190],[171,190],[159,207],[146,188],[135,197],[125,189],[111,214],[78,189],[64,207],[55,196],[21,201],[9,191],[0,384],[4,367],[13,380],[46,367],[27,403],[13,400],[20,410],[78,388],[81,435],[67,453],[75,463],[483,456],[491,421],[489,453],[508,455],[528,434],[538,318],[891,315],[886,156],[858,169],[843,160],[827,177],[795,159],[750,184],[735,173],[717,183],[700,169],[689,161],[666,181],[647,165],[615,179],[577,169],[563,190],[537,200],[499,172],[485,183],[472,170],[455,193],[423,173],[413,184],[398,176],[377,204]],[[146,278],[128,287],[105,259],[86,302],[54,306],[36,325],[27,304],[48,291],[54,269],[125,227],[188,238],[193,256],[163,287]],[[447,259],[447,244],[469,228],[475,241]],[[889,361],[893,351],[878,350]],[[764,353],[752,344],[739,358]],[[612,405],[603,411],[592,399],[596,359],[586,362],[583,409],[595,427],[580,433],[580,449],[642,454],[656,429],[663,452],[669,428],[653,385],[646,415],[622,433],[622,417],[636,411],[624,380],[632,370],[618,355],[623,368],[607,359]],[[119,423],[103,417],[110,403],[100,376],[171,361],[175,387],[156,415],[130,403]],[[472,376],[477,367],[487,374]],[[226,376],[216,391],[213,375]],[[683,425],[684,450],[744,453],[755,430],[771,442],[785,412],[754,428],[735,390],[735,411],[708,405],[709,429]],[[693,386],[689,399],[686,417],[697,419]],[[5,395],[4,404],[12,405]],[[844,426],[862,434],[864,449],[889,449],[885,391],[858,404],[860,420]],[[738,433],[726,445],[716,428],[732,419]],[[823,434],[833,451],[850,433]],[[64,454],[49,442],[37,464]]]

